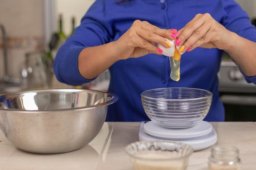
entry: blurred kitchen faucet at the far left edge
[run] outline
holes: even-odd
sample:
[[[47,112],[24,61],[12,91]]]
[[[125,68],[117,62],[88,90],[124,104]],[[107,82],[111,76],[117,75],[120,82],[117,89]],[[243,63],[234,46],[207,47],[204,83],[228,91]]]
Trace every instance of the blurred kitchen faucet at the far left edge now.
[[[3,44],[3,57],[4,57],[4,77],[0,79],[0,82],[3,83],[16,83],[20,84],[19,78],[9,77],[8,74],[8,62],[7,62],[7,41],[6,41],[6,33],[4,29],[4,25],[0,23],[0,29],[2,32],[2,44]]]

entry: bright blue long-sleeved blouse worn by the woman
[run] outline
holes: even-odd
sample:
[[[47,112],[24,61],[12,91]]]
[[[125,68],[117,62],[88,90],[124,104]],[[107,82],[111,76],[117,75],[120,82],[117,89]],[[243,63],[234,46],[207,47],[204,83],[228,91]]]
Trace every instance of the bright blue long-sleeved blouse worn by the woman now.
[[[96,0],[81,20],[74,34],[59,49],[54,72],[60,82],[81,85],[92,81],[78,70],[79,53],[86,47],[98,46],[118,38],[134,20],[146,20],[163,29],[181,29],[198,13],[211,16],[228,30],[256,42],[256,29],[249,16],[234,0]],[[106,121],[149,120],[141,104],[141,92],[162,87],[192,87],[213,93],[211,109],[204,120],[224,121],[225,110],[219,98],[218,76],[222,50],[196,48],[181,57],[180,81],[170,78],[169,58],[149,54],[120,60],[110,68],[109,90],[119,96],[110,105]],[[104,57],[104,55],[102,56]],[[256,83],[256,76],[247,77]]]

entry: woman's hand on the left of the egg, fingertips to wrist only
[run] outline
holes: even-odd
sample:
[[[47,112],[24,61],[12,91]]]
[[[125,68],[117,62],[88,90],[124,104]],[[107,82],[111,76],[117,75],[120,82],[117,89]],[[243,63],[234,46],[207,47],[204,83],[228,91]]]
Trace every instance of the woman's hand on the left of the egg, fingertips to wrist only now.
[[[160,29],[146,21],[135,20],[132,26],[115,41],[116,56],[119,60],[127,58],[137,58],[149,53],[161,55],[162,50],[157,48],[157,44],[168,48],[170,44],[165,38],[174,40],[172,37],[176,29]]]

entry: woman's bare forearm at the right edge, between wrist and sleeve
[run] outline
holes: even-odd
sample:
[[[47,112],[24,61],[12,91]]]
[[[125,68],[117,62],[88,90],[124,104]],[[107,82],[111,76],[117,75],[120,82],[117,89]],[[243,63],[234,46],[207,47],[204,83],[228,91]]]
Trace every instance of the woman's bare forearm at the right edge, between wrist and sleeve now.
[[[231,33],[231,46],[224,49],[247,76],[256,75],[256,43]]]

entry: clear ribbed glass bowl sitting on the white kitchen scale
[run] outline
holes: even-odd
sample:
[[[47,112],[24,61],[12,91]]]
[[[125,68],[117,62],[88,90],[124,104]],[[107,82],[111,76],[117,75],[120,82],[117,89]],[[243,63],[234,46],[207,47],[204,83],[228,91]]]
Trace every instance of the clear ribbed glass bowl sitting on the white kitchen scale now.
[[[157,88],[141,93],[148,117],[163,128],[191,128],[206,117],[213,94],[198,88]]]

